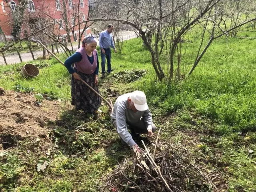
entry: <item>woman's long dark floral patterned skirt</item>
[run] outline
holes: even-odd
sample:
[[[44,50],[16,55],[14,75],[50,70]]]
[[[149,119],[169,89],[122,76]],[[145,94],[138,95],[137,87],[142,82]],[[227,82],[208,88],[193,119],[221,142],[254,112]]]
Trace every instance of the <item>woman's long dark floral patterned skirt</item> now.
[[[90,85],[95,91],[100,94],[100,89],[98,85],[94,84],[94,73],[85,74],[78,71],[74,68],[76,73]],[[82,109],[85,113],[94,113],[101,104],[101,98],[96,95],[89,87],[87,87],[82,81],[79,81],[71,77],[71,105],[76,107],[76,110],[79,111]]]

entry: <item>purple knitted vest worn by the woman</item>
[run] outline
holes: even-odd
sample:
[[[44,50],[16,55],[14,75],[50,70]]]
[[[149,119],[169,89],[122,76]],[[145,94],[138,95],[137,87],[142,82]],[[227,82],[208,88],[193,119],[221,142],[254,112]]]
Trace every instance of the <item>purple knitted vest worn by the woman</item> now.
[[[82,60],[75,63],[76,69],[78,71],[80,71],[81,73],[85,73],[85,74],[94,73],[94,71],[97,67],[97,56],[96,56],[97,50],[95,49],[94,51],[92,51],[92,54],[94,57],[92,64],[90,63],[90,61],[87,57],[84,47],[77,49],[76,52],[79,52],[82,55]]]

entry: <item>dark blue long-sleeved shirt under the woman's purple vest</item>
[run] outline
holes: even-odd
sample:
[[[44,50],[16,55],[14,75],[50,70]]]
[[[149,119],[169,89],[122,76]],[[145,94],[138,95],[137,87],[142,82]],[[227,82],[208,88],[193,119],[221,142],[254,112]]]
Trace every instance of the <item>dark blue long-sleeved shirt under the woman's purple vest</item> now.
[[[86,54],[87,55],[87,54]],[[94,75],[98,75],[99,74],[99,58],[98,58],[98,53],[96,53],[96,56],[97,56],[97,67],[96,67],[96,69],[95,69],[95,71],[94,71]],[[87,58],[88,58],[88,60],[90,61],[90,63],[92,64],[93,63],[93,61],[94,61],[94,56],[93,56],[93,54],[92,54],[92,57],[89,57],[88,55],[87,55]],[[65,61],[65,67],[68,69],[68,72],[70,73],[70,74],[73,74],[75,71],[74,71],[74,69],[72,68],[72,63],[76,63],[76,62],[79,62],[79,61],[81,61],[82,60],[82,55],[81,55],[81,53],[79,53],[79,52],[76,52],[76,53],[74,53],[73,55],[71,55],[70,57],[68,57],[68,59],[66,59],[66,61]]]

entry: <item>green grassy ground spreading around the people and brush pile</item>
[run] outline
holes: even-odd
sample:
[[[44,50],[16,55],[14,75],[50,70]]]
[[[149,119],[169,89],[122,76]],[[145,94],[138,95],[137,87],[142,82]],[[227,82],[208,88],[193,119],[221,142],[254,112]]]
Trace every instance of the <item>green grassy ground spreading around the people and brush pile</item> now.
[[[199,133],[200,145],[194,149],[198,160],[206,159],[206,164],[218,166],[225,172],[230,191],[253,191],[256,190],[255,152],[249,154],[248,150],[256,151],[253,132],[256,126],[255,45],[255,40],[218,40],[188,79],[173,84],[154,81],[149,53],[142,48],[140,40],[130,40],[124,43],[122,54],[112,54],[114,73],[137,68],[146,69],[148,74],[141,81],[125,85],[116,83],[110,75],[100,82],[102,93],[107,87],[120,93],[143,90],[156,124],[163,127],[163,140],[171,138],[178,142],[188,137],[186,131]],[[184,61],[190,63],[191,58],[184,58]],[[55,60],[44,62],[56,63]],[[0,72],[11,67],[0,67]],[[5,89],[13,89],[17,84],[34,87],[36,92],[43,86],[50,87],[56,89],[60,97],[70,98],[69,75],[60,64],[43,68],[40,75],[31,80],[21,79],[18,74],[1,75],[0,86]],[[88,122],[79,119],[76,113],[63,112],[62,119],[74,127],[82,125],[86,129],[77,134],[55,125],[55,135],[59,132],[62,135],[55,136],[54,141],[58,143],[65,138],[67,143],[52,148],[50,167],[44,173],[36,173],[35,166],[38,158],[45,156],[38,150],[46,141],[20,143],[19,153],[10,152],[1,160],[4,169],[0,179],[7,174],[6,184],[10,184],[4,188],[11,190],[18,184],[17,191],[22,192],[98,191],[96,186],[102,174],[114,168],[122,155],[130,154],[129,150],[120,150],[118,136],[108,123],[107,109],[101,109],[104,113]],[[169,117],[170,113],[175,115]],[[162,114],[167,114],[164,121],[170,123],[161,122]],[[26,152],[28,146],[30,154]]]

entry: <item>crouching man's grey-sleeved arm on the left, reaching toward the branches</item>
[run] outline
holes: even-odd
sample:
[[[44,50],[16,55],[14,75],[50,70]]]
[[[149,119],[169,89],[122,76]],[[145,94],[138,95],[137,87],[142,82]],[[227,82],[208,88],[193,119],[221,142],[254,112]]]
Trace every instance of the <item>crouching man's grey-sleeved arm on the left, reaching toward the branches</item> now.
[[[124,140],[125,143],[127,143],[130,147],[134,146],[136,143],[132,139],[132,135],[129,133],[126,121],[125,121],[125,108],[124,106],[117,106],[116,108],[116,127],[117,127],[117,133],[120,135],[122,140]]]

